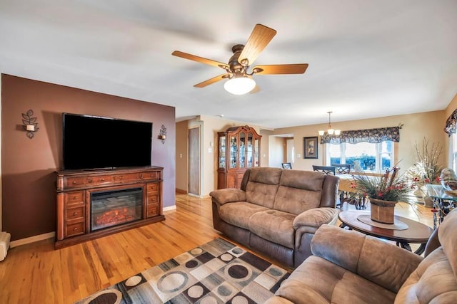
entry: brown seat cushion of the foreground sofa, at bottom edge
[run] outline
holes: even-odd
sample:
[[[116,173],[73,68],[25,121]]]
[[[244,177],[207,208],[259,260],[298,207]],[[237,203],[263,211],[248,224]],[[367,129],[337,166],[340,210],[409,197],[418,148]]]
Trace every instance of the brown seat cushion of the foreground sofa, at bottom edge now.
[[[393,303],[395,293],[318,256],[310,256],[276,291],[292,303]]]

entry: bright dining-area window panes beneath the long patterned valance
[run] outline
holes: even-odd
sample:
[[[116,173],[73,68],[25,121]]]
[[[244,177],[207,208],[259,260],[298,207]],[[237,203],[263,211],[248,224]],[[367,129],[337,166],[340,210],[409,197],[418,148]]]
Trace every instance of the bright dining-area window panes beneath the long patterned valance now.
[[[328,144],[327,164],[352,164],[354,169],[368,172],[385,172],[395,164],[393,142],[358,142],[350,144]]]

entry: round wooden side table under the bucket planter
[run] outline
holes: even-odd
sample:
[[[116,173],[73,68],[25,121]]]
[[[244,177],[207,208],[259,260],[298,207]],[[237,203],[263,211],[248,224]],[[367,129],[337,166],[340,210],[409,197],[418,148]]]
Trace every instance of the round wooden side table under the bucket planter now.
[[[338,219],[343,223],[341,226],[347,226],[349,229],[353,229],[369,236],[376,236],[380,239],[386,239],[389,241],[395,241],[397,246],[405,248],[411,251],[409,243],[420,243],[421,246],[415,251],[415,253],[421,255],[426,248],[426,243],[433,233],[431,227],[421,224],[418,221],[407,219],[403,216],[395,216],[396,221],[401,221],[408,226],[403,230],[386,229],[370,224],[365,224],[358,219],[358,216],[370,214],[369,211],[341,211],[338,214]]]

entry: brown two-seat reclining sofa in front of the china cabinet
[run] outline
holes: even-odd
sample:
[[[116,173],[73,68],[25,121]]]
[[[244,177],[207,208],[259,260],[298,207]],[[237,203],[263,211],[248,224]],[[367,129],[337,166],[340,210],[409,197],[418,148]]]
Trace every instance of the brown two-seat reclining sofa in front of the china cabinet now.
[[[338,183],[338,177],[321,172],[248,169],[241,189],[209,194],[214,229],[295,268],[311,255],[319,226],[336,224]]]

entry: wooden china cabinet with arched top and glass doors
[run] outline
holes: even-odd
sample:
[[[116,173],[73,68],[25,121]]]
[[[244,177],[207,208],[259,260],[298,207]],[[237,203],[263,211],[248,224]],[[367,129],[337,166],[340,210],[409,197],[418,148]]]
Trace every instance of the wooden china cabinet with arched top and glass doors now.
[[[260,140],[247,125],[218,132],[218,189],[240,188],[246,169],[260,167]]]

